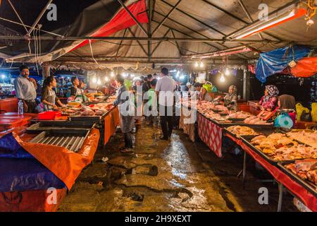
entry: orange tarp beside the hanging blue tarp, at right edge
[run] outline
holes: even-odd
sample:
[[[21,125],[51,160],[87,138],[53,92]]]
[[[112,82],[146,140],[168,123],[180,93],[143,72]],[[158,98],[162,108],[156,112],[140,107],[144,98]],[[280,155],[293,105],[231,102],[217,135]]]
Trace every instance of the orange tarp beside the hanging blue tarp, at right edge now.
[[[317,73],[317,57],[306,57],[297,62],[297,65],[291,69],[295,77],[310,77]]]

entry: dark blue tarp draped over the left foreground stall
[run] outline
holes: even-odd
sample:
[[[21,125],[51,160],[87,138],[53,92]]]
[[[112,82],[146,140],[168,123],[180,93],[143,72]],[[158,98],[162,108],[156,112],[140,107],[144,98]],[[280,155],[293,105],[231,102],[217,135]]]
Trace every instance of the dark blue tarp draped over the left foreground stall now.
[[[0,192],[43,190],[66,185],[27,153],[12,133],[0,138]]]

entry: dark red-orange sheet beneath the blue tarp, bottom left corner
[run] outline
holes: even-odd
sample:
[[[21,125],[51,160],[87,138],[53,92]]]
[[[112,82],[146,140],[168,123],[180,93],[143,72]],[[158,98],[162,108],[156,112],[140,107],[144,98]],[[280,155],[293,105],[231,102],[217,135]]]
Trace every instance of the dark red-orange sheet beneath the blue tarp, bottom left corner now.
[[[55,212],[65,196],[66,189],[1,192],[0,212]]]

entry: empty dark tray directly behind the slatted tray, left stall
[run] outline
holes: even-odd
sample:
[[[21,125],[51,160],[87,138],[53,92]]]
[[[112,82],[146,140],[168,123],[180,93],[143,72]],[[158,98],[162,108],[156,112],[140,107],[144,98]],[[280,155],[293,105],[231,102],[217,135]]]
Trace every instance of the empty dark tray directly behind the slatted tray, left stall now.
[[[42,131],[58,129],[93,129],[96,123],[93,121],[41,121],[27,128],[27,133],[39,133]]]

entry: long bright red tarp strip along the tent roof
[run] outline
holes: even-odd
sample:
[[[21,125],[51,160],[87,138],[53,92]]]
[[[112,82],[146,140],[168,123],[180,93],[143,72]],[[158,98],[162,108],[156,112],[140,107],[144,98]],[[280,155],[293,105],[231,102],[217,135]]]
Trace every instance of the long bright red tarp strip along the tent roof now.
[[[145,4],[145,0],[140,0],[132,3],[128,6],[128,8],[133,16],[135,16],[137,21],[139,21],[139,23],[149,22],[146,12],[147,6]],[[131,26],[136,24],[137,23],[135,23],[135,20],[133,20],[130,14],[125,10],[125,8],[123,8],[119,11],[119,13],[116,14],[116,16],[114,16],[108,23],[106,23],[104,27],[97,30],[97,32],[94,32],[91,37],[107,37],[125,28],[130,28]],[[89,40],[81,42],[76,47],[71,49],[70,52],[79,47],[83,47],[86,44],[89,44]]]

